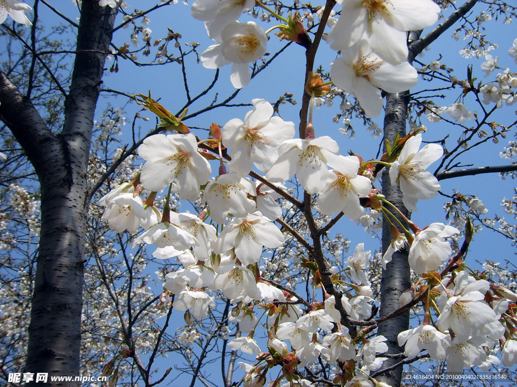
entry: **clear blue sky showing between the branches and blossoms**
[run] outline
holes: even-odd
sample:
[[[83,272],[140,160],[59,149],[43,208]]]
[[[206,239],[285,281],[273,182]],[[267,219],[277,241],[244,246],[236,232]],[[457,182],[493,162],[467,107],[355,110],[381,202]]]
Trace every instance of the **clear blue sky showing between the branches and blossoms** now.
[[[148,6],[148,1],[134,1],[129,0],[129,9],[139,8],[142,9]],[[316,4],[315,2],[314,4]],[[323,4],[323,3],[322,3]],[[74,20],[77,15],[77,8],[68,0],[62,0],[55,4],[56,7],[65,13],[69,18]],[[337,7],[339,9],[339,6]],[[45,10],[44,6],[40,8],[40,18],[43,23],[47,21],[55,21],[55,15]],[[250,17],[243,17],[240,20],[253,20]],[[178,3],[168,7],[162,8],[157,13],[149,14],[150,25],[148,26],[152,31],[153,40],[164,37],[166,35],[167,27],[171,27],[175,32],[183,35],[181,40],[182,44],[185,42],[199,42],[201,45],[199,53],[201,54],[212,41],[208,39],[203,23],[194,20],[190,15],[190,5]],[[118,21],[121,18],[117,19]],[[515,22],[514,22],[515,23]],[[517,38],[515,33],[515,25],[508,24],[503,25],[501,21],[487,22],[486,32],[490,40],[499,44],[499,48],[494,50],[492,54],[499,56],[499,66],[506,68],[509,67],[515,71],[517,67],[513,62],[513,59],[508,55],[508,49],[511,47],[513,39]],[[139,24],[140,25],[140,24]],[[268,28],[273,24],[267,25]],[[117,46],[123,45],[125,42],[129,42],[129,30],[122,29],[117,31],[114,42]],[[425,34],[426,31],[424,31]],[[443,59],[440,61],[445,63],[448,67],[454,68],[455,75],[462,79],[466,74],[466,67],[469,64],[473,65],[474,74],[478,80],[484,81],[484,73],[480,69],[481,63],[484,59],[470,58],[465,59],[459,51],[464,46],[464,41],[458,42],[452,40],[450,35],[452,30],[446,33],[438,41],[433,43],[430,51],[425,51],[425,57],[419,58],[424,62],[436,60],[438,55],[441,53]],[[278,42],[278,39],[270,34],[271,39],[268,42],[268,51],[271,53],[276,52],[285,43]],[[142,41],[140,38],[142,45]],[[185,47],[185,46],[184,46]],[[130,47],[133,49],[133,46]],[[170,52],[172,50],[169,50]],[[151,48],[152,57],[156,50]],[[150,58],[149,57],[149,58]],[[322,42],[321,49],[318,51],[315,63],[323,65],[328,71],[330,69],[329,63],[336,58],[336,53],[331,51],[325,42]],[[144,57],[139,54],[139,60],[145,61]],[[111,66],[111,63],[107,63],[107,67]],[[189,56],[186,63],[187,75],[190,80],[190,90],[192,94],[203,90],[214,76],[214,70],[205,69],[201,64],[195,63],[195,56]],[[127,93],[147,93],[151,91],[153,98],[161,98],[161,103],[173,112],[176,112],[184,105],[186,99],[183,90],[183,78],[179,72],[180,68],[178,65],[168,66],[155,66],[148,68],[136,68],[128,60],[119,61],[118,73],[107,73],[103,78],[105,88],[119,89]],[[487,79],[494,79],[495,74]],[[193,108],[190,109],[189,113],[195,111],[195,108],[202,108],[208,105],[215,96],[215,92],[219,93],[219,100],[222,100],[225,95],[233,93],[233,89],[230,79],[230,66],[224,67],[220,70],[220,80],[214,91],[211,91],[204,98],[200,99],[199,103],[196,103]],[[251,103],[254,98],[263,98],[270,102],[275,102],[284,92],[291,92],[294,94],[294,99],[299,103],[296,106],[283,105],[281,108],[281,115],[284,120],[294,121],[296,127],[299,123],[299,108],[301,105],[301,95],[303,91],[303,76],[305,74],[305,52],[302,47],[293,44],[288,47],[286,52],[273,62],[269,69],[259,74],[256,78],[252,79],[250,85],[239,92],[237,99],[234,103]],[[420,81],[415,90],[424,88],[427,85]],[[448,106],[449,104],[456,102],[458,95],[460,94],[459,89],[451,96],[440,102],[435,99],[435,102],[440,106]],[[126,102],[124,98],[117,98],[114,100],[111,96],[101,96],[97,109],[97,114],[100,115],[103,106],[106,102],[110,102],[113,106],[122,106]],[[328,135],[336,139],[339,144],[342,153],[346,153],[348,150],[363,156],[364,159],[372,158],[378,148],[379,138],[372,139],[370,133],[366,130],[362,130],[361,122],[359,120],[353,121],[354,128],[356,130],[356,138],[349,139],[339,133],[339,128],[342,127],[341,123],[333,123],[331,118],[336,112],[339,111],[339,103],[333,107],[322,107],[321,109],[314,110],[314,123],[316,128],[316,135]],[[478,107],[473,105],[467,105],[469,109],[479,110]],[[505,107],[497,111],[497,114],[492,120],[499,120],[498,122],[503,124],[511,123],[515,120],[515,106]],[[132,116],[132,112],[136,110],[136,105],[132,104],[126,108],[128,111],[128,117]],[[188,120],[186,124],[188,126],[199,126],[208,128],[211,122],[216,122],[219,125],[224,125],[227,121],[232,118],[244,119],[246,112],[250,110],[249,107],[240,108],[219,108],[208,114],[200,117]],[[147,113],[144,114],[146,117],[151,118],[148,127],[145,127],[145,123],[142,122],[142,133],[145,133],[151,128],[154,122],[154,117]],[[381,118],[374,119],[374,122],[382,126]],[[428,123],[424,121],[424,124],[428,127],[428,132],[424,134],[424,141],[432,141],[444,137],[445,134],[450,134],[452,141],[454,141],[454,135],[458,135],[460,129],[457,126],[452,126],[446,122],[440,123]],[[127,130],[130,130],[129,126],[126,126]],[[204,137],[202,132],[196,133],[200,137]],[[511,132],[508,134],[508,140],[511,140],[513,135]],[[508,160],[503,160],[499,157],[499,152],[503,150],[506,142],[501,140],[499,144],[489,143],[483,149],[473,152],[472,155],[468,155],[463,159],[464,164],[472,163],[474,167],[480,167],[484,165],[503,165],[507,164]],[[437,165],[434,164],[432,167]],[[213,167],[213,166],[212,166]],[[434,170],[432,169],[431,170]],[[217,168],[213,168],[217,170]],[[493,214],[504,215],[503,208],[500,207],[500,202],[503,197],[513,197],[513,187],[515,183],[512,180],[501,181],[497,174],[490,175],[478,175],[470,176],[458,179],[451,179],[442,182],[442,191],[448,195],[452,194],[452,188],[459,189],[462,193],[469,195],[477,195],[483,200],[486,207],[489,209],[487,215],[492,216]],[[421,227],[435,221],[444,221],[443,203],[446,201],[443,197],[436,197],[430,201],[419,201],[419,211],[413,215],[413,220],[416,221]],[[187,208],[187,206],[185,206]],[[190,207],[189,207],[190,208]],[[511,221],[507,217],[508,221]],[[358,243],[364,242],[367,245],[367,249],[378,248],[376,240],[372,240],[370,235],[365,233],[362,228],[356,227],[355,224],[346,217],[344,217],[339,225],[332,230],[331,233],[341,232],[346,237],[351,239],[351,253]],[[490,259],[496,262],[503,262],[504,260],[514,260],[514,248],[511,246],[510,241],[506,240],[500,235],[497,235],[489,230],[477,234],[474,238],[473,243],[470,246],[470,253],[468,255],[469,260],[484,261]],[[470,261],[472,263],[472,261]]]

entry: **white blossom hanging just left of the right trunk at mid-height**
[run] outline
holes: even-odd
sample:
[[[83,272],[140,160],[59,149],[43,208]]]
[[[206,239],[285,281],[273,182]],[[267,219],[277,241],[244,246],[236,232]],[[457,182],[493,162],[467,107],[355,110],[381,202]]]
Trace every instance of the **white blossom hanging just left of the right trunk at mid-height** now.
[[[318,198],[320,211],[332,215],[339,211],[351,219],[357,219],[364,214],[364,208],[359,203],[360,196],[368,196],[372,190],[372,182],[365,176],[358,175],[359,159],[356,156],[340,156],[343,160],[340,169],[333,169],[333,175]],[[344,169],[343,167],[347,167]]]

